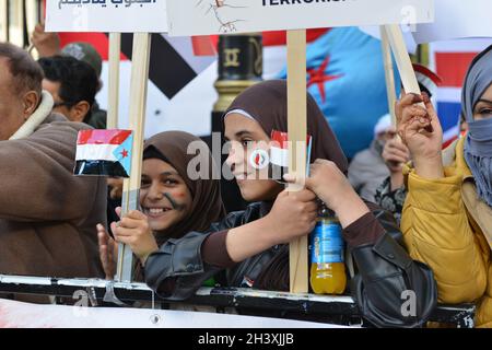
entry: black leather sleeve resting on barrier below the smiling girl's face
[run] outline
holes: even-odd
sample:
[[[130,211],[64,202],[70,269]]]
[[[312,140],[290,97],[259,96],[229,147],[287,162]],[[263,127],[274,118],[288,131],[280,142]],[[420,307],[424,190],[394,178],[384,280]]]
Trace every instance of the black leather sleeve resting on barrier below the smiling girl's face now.
[[[245,211],[230,213],[221,222],[213,223],[208,232],[190,232],[178,240],[168,240],[145,262],[145,283],[160,296],[183,301],[195,294],[204,281],[222,271],[203,261],[201,246],[214,232],[220,232],[257,219],[259,205],[250,205]]]

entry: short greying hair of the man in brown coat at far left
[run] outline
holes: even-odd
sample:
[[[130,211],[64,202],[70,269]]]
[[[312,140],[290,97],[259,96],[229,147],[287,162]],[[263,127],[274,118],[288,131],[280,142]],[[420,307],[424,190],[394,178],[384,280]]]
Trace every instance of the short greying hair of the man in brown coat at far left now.
[[[0,58],[7,59],[15,93],[35,91],[40,96],[43,70],[25,50],[9,43],[0,43]]]

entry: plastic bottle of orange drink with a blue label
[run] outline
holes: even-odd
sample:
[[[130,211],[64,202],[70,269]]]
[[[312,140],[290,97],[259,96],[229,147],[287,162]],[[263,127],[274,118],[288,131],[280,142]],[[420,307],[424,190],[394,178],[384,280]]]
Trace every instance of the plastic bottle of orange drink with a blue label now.
[[[338,219],[325,206],[311,234],[311,287],[316,294],[342,294],[347,287],[343,238]]]

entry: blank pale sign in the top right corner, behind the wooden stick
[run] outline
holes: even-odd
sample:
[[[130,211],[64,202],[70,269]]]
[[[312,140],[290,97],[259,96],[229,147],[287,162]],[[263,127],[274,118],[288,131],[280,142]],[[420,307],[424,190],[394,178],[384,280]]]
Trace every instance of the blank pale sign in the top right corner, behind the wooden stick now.
[[[418,44],[462,37],[492,37],[491,0],[436,0],[435,22],[417,25]]]

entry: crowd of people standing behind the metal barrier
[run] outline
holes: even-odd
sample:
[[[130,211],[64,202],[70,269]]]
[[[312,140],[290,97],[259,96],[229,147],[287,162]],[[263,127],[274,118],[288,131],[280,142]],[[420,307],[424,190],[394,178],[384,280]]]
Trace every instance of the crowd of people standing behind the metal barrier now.
[[[265,81],[223,116],[225,163],[249,202],[244,211],[225,211],[211,173],[190,176],[197,155],[188,147],[202,141],[167,131],[145,140],[140,210],[119,217],[114,179],[72,175],[78,132],[105,128],[95,101],[101,57],[83,43],[60,49],[42,27],[33,42],[38,61],[0,43],[0,273],[113,279],[117,243],[125,243],[137,258],[134,280],[169,301],[211,278],[289,291],[289,243],[313,231],[323,202],[342,226],[356,267],[350,293],[364,318],[424,326],[437,302],[473,302],[477,326],[492,327],[492,46],[471,62],[466,131],[445,150],[426,85],[435,74],[423,74],[421,95],[401,92],[396,126],[382,117],[371,147],[350,163],[307,95],[309,176],[304,189],[288,192],[295,176],[258,179],[249,162],[272,130],[288,131],[286,82]],[[210,152],[199,158],[214,164]],[[417,306],[406,316],[409,290]]]

